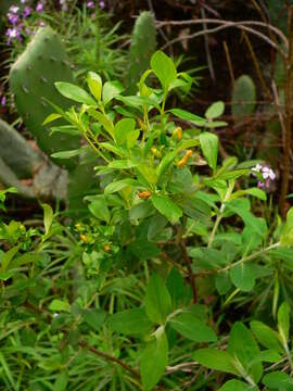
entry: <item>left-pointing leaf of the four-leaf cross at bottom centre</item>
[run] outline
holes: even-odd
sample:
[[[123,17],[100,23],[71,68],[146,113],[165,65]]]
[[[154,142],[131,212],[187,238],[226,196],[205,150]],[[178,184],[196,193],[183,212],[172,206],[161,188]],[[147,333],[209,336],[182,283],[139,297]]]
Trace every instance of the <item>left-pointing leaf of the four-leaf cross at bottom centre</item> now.
[[[110,327],[125,336],[146,333],[152,327],[152,321],[143,308],[125,310],[112,315],[109,319]]]

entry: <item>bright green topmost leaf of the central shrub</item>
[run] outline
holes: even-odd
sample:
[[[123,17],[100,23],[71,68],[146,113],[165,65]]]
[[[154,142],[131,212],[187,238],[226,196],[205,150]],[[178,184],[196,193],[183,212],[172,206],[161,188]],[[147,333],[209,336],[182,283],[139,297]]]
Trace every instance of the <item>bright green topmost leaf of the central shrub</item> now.
[[[151,67],[164,91],[167,91],[177,77],[177,71],[173,60],[158,50],[151,58]]]

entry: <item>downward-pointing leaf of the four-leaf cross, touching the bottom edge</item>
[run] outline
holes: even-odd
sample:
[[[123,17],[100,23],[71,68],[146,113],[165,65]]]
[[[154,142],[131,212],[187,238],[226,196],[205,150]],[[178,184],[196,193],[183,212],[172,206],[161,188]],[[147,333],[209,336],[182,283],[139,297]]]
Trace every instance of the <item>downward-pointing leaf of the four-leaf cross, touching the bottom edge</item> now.
[[[168,341],[162,332],[149,342],[140,358],[140,375],[145,391],[151,391],[165,374],[168,365]]]

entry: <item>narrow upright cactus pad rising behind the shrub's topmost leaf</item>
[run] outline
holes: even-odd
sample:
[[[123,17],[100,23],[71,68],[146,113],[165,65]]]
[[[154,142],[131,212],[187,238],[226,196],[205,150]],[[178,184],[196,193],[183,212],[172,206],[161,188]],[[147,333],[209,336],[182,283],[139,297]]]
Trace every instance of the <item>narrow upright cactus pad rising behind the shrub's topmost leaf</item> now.
[[[144,71],[150,67],[150,60],[155,52],[155,24],[151,12],[142,12],[136,21],[129,59],[128,87],[129,93],[137,90],[136,84]]]

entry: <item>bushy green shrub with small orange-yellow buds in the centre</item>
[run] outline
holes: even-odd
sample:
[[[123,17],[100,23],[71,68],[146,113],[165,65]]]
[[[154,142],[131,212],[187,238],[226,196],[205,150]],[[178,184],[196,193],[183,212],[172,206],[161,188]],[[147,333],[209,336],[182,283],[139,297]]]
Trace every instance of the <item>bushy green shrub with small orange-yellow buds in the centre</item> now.
[[[151,74],[160,83],[155,88],[148,84]],[[73,133],[77,130],[88,142],[54,153],[54,159],[78,155],[89,147],[97,153],[100,190],[86,200],[99,224],[113,227],[104,251],[111,255],[112,245],[119,250],[106,261],[99,254],[90,260],[95,240],[81,234],[90,244],[85,262],[90,273],[97,267],[103,276],[111,267],[133,268],[143,263],[162,276],[150,277],[142,307],[110,319],[119,333],[149,336],[145,350],[138,354],[140,375],[128,367],[141,377],[145,390],[153,389],[165,373],[169,328],[194,342],[216,339],[194,307],[205,295],[205,282],[209,294],[217,289],[228,305],[240,292],[251,292],[260,277],[272,278],[275,287],[286,287],[282,276],[288,272],[284,265],[280,267],[278,256],[292,256],[293,210],[285,225],[269,235],[265,219],[250,211],[249,195],[266,200],[265,192],[256,187],[235,188],[235,180],[251,175],[253,163],[238,164],[232,156],[218,163],[219,140],[208,129],[224,125],[216,121],[224,112],[222,102],[208,108],[204,117],[167,108],[168,93],[187,83],[189,78],[177,73],[173,60],[157,51],[138,83],[138,94],[125,97],[117,83],[103,84],[98,74],[89,73],[90,93],[68,83],[55,84],[61,94],[81,105],[66,112],[54,106],[55,113],[46,119],[65,118]],[[193,127],[182,130],[176,118]],[[59,131],[68,134],[68,127],[61,126]],[[232,216],[232,227],[224,224]],[[272,294],[271,288],[264,292],[263,302]],[[273,313],[278,298],[275,289]]]

